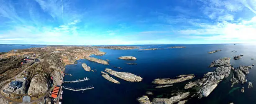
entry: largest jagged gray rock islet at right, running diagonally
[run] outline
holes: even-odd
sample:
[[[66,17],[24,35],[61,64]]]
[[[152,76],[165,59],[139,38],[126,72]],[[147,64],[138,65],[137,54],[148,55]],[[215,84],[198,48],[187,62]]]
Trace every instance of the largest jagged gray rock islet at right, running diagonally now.
[[[217,66],[213,72],[206,73],[202,79],[189,82],[184,86],[184,89],[202,86],[197,92],[198,98],[207,97],[223,79],[229,76],[231,71],[230,58],[221,58],[213,61],[210,67],[213,66]]]

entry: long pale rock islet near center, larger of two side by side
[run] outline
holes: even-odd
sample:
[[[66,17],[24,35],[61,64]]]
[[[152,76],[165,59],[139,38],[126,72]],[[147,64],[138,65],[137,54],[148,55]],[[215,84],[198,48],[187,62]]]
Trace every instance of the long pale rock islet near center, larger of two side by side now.
[[[131,81],[131,82],[142,81],[142,78],[140,76],[136,76],[135,74],[131,74],[131,73],[127,73],[127,72],[113,71],[109,68],[105,68],[105,71],[108,72],[109,74],[116,76],[120,79],[123,79],[125,81]]]

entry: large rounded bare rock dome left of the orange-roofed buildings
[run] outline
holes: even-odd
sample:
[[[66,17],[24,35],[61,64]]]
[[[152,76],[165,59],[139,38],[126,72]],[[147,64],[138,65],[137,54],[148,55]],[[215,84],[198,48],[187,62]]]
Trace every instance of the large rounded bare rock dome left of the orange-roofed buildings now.
[[[38,74],[31,80],[30,87],[28,89],[28,95],[36,96],[38,94],[44,94],[50,88],[49,79],[46,74]]]

